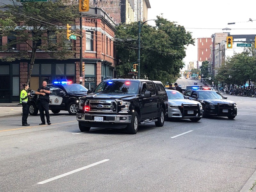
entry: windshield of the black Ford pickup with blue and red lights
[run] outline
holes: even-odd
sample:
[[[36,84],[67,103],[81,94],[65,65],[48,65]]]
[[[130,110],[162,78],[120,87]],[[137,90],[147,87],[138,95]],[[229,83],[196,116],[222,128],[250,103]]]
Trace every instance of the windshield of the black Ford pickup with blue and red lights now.
[[[110,80],[101,82],[94,92],[138,94],[138,90],[139,82]]]

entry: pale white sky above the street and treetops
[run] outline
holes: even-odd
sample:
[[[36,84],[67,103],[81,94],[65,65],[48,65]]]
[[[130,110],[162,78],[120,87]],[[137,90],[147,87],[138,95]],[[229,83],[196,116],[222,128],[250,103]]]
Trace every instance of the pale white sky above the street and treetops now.
[[[157,15],[169,21],[175,21],[192,32],[195,46],[189,45],[184,58],[185,68],[189,61],[197,61],[197,38],[209,37],[214,33],[222,33],[223,28],[230,28],[230,35],[256,34],[256,1],[208,1],[208,0],[149,0],[148,20]],[[249,19],[253,21],[249,21]],[[248,21],[248,22],[247,22]],[[228,25],[228,23],[233,23]],[[155,21],[148,21],[155,26]]]

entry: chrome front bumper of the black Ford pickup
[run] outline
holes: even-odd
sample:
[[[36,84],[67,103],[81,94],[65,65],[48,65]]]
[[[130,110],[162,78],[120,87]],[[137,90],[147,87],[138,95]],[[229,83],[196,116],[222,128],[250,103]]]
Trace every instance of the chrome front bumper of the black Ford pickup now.
[[[95,121],[94,117],[103,117],[103,121]],[[97,118],[98,119],[98,118]],[[106,114],[84,114],[84,113],[77,113],[76,120],[82,122],[92,122],[92,123],[124,123],[129,124],[132,121],[132,115],[106,115]],[[103,125],[104,126],[104,125]]]

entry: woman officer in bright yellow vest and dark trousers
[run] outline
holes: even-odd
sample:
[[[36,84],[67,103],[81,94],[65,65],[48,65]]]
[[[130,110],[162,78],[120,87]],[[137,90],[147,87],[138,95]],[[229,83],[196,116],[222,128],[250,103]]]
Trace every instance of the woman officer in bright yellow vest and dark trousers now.
[[[20,92],[20,103],[22,104],[22,126],[29,126],[27,119],[28,119],[28,112],[29,112],[29,106],[28,106],[28,96],[30,93],[28,93],[29,86],[28,84],[23,84],[24,89]]]

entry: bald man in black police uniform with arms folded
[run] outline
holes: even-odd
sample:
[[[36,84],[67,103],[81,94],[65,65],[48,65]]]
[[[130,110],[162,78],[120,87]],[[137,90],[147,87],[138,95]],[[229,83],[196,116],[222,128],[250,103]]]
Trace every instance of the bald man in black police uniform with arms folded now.
[[[43,87],[39,87],[39,89],[35,92],[36,95],[38,96],[37,102],[38,102],[38,108],[40,112],[40,117],[42,123],[39,125],[45,125],[45,119],[44,119],[44,111],[45,111],[45,116],[46,116],[46,122],[48,125],[51,124],[50,122],[50,115],[49,115],[49,103],[50,103],[50,89],[46,87],[47,82],[43,81]]]

